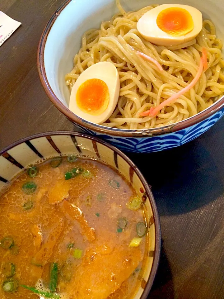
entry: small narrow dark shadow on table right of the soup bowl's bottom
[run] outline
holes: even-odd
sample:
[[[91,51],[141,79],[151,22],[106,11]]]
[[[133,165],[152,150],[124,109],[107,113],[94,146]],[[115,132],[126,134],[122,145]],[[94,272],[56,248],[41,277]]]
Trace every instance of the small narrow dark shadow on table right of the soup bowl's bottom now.
[[[156,278],[147,299],[174,299],[172,273],[163,246]]]

